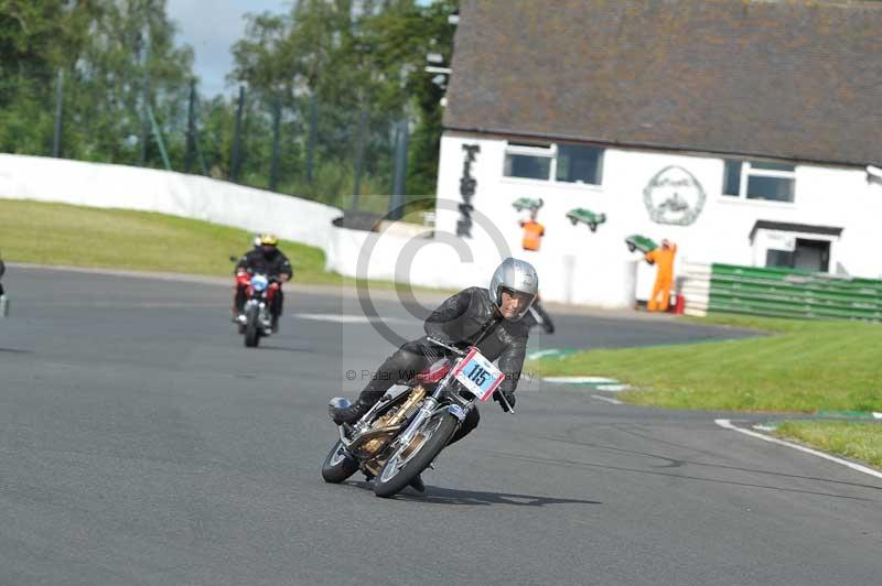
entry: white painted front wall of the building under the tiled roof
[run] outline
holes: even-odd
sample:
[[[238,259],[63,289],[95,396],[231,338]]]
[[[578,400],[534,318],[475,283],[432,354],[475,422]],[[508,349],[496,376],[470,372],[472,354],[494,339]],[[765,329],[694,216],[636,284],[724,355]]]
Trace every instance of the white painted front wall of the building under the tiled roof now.
[[[868,185],[863,170],[798,165],[794,203],[746,200],[722,195],[721,158],[607,149],[603,185],[592,186],[504,177],[505,141],[447,133],[441,141],[439,197],[462,199],[459,182],[465,155],[463,144],[481,146],[472,163],[472,175],[477,181],[472,200],[476,210],[492,218],[517,256],[545,261],[548,270],[539,274],[544,283],[560,282],[564,278],[551,272],[568,270],[551,259],[578,257],[590,271],[585,286],[606,290],[605,294],[589,294],[592,299],[609,296],[612,301],[616,286],[607,283],[611,280],[619,280],[620,289],[631,286],[623,280],[628,274],[623,271],[623,263],[641,258],[639,253],[630,254],[624,245],[624,238],[632,234],[677,242],[677,269],[684,259],[750,265],[754,264],[754,247],[749,236],[759,219],[841,227],[841,238],[831,246],[830,270],[841,263],[852,275],[882,275],[882,261],[872,247],[882,217],[882,187]],[[701,214],[690,226],[656,224],[644,204],[644,188],[668,165],[689,171],[707,194]],[[545,202],[539,221],[546,226],[546,237],[539,252],[520,250],[521,230],[517,223],[526,213],[518,214],[512,207],[519,197],[541,197]],[[596,232],[583,224],[572,226],[564,216],[577,207],[604,213],[607,220]],[[455,232],[459,215],[456,210],[439,208],[439,229]],[[473,237],[477,246],[487,246],[477,223]],[[639,262],[637,271],[637,296],[646,299],[655,269]],[[584,275],[580,273],[580,278]]]

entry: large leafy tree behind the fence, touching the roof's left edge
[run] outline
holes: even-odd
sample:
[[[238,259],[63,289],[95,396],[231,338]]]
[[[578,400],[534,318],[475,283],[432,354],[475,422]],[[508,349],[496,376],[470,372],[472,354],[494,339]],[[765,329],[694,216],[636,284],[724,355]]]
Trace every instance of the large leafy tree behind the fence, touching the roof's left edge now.
[[[287,14],[252,14],[246,36],[234,46],[228,79],[246,84],[252,95],[281,97],[293,122],[290,130],[301,130],[287,137],[308,160],[314,104],[315,176],[351,180],[361,151],[363,191],[388,193],[391,128],[409,119],[416,130],[408,191],[433,193],[443,89],[423,66],[430,47],[449,54],[442,47],[450,47],[447,17],[455,6],[452,0],[430,7],[415,0],[301,0]],[[308,160],[289,159],[286,167],[303,170]],[[340,200],[352,183],[301,181],[298,187],[347,205]]]

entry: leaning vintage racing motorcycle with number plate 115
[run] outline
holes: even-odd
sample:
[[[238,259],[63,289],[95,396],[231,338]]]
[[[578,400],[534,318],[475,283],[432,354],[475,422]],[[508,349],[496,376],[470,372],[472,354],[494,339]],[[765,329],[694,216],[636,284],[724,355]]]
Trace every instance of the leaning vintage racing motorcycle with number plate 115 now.
[[[342,482],[361,469],[374,479],[376,496],[396,495],[432,464],[469,412],[490,399],[505,378],[475,347],[463,351],[429,341],[452,356],[405,381],[405,391],[386,393],[355,424],[340,425],[340,440],[322,464],[325,481]],[[329,411],[348,404],[334,398]],[[514,413],[507,401],[505,406]]]

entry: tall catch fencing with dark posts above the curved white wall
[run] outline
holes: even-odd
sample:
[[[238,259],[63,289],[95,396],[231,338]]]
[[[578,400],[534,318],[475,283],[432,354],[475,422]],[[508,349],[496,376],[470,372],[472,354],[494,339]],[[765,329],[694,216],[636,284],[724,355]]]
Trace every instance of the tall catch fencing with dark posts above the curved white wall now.
[[[407,203],[409,132],[400,115],[305,95],[208,98],[187,79],[0,67],[0,152],[164,169],[374,214]]]

